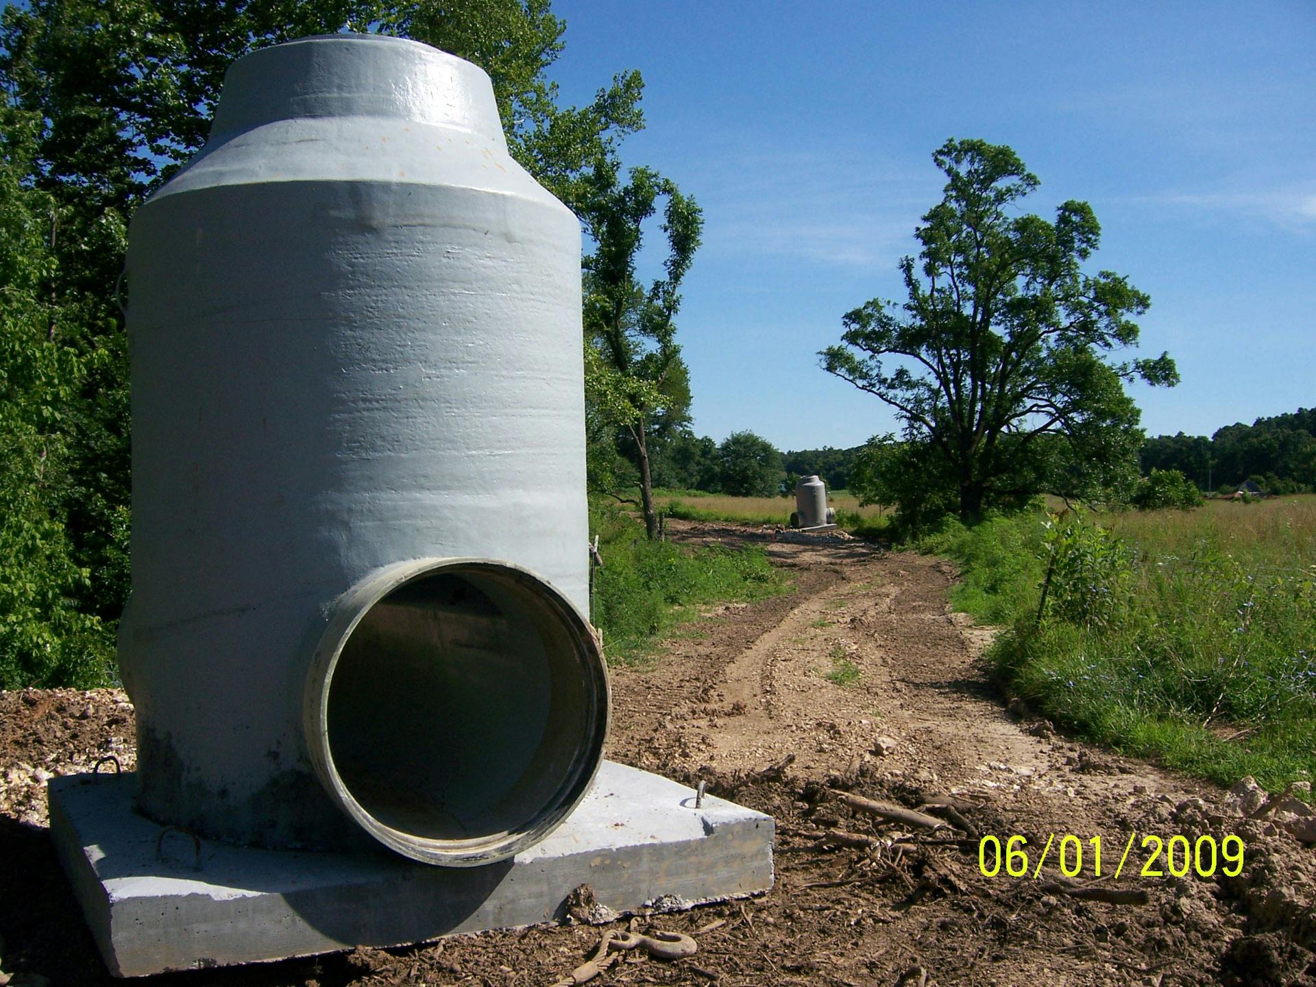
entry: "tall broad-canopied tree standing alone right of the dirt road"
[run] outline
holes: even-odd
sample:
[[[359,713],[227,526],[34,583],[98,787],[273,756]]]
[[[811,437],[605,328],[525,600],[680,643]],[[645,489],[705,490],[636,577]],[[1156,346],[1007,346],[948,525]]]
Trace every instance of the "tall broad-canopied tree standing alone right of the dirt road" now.
[[[1009,147],[950,139],[932,158],[946,186],[915,229],[919,259],[900,262],[908,300],[848,312],[842,345],[819,354],[904,425],[859,475],[896,492],[916,525],[942,508],[973,520],[1136,476],[1142,433],[1124,384],[1173,386],[1178,371],[1163,353],[1107,355],[1137,343],[1133,316],[1150,299],[1083,271],[1101,232],[1087,203],[1063,203],[1054,222],[1020,213],[1038,180]]]

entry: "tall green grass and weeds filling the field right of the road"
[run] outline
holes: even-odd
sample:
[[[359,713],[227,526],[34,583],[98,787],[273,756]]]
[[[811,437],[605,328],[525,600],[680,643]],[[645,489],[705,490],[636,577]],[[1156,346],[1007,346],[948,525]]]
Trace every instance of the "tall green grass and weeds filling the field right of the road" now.
[[[995,670],[1044,715],[1221,783],[1316,774],[1316,497],[951,522],[924,547],[1008,625]]]

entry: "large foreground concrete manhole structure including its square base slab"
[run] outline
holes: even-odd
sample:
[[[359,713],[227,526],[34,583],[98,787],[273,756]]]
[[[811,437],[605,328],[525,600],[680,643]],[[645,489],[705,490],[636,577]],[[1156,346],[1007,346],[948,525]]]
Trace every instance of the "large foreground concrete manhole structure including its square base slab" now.
[[[247,55],[129,243],[138,771],[49,786],[109,970],[770,888],[771,817],[600,769],[580,234],[488,78]]]

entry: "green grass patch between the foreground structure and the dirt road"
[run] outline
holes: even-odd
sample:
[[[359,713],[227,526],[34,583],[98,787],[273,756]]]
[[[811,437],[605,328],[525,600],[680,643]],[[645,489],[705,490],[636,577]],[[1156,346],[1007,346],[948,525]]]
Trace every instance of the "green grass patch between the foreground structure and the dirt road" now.
[[[790,590],[757,546],[650,542],[642,524],[603,505],[591,508],[590,528],[599,536],[603,558],[594,574],[591,612],[609,662],[642,661],[665,633],[695,617],[700,604],[750,601]]]

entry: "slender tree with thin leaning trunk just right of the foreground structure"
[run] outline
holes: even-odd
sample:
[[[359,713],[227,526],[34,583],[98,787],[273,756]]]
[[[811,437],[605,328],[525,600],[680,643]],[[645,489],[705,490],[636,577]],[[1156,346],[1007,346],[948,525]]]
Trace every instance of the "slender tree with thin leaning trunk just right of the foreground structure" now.
[[[658,537],[650,445],[690,420],[690,375],[672,321],[679,287],[694,262],[703,212],[674,182],[650,168],[630,168],[621,184],[615,157],[600,158],[580,183],[580,221],[595,250],[584,259],[586,393],[611,409],[619,450],[638,474],[640,508],[650,540]],[[661,230],[667,240],[665,276],[644,286],[636,258],[644,224],[666,199]]]

